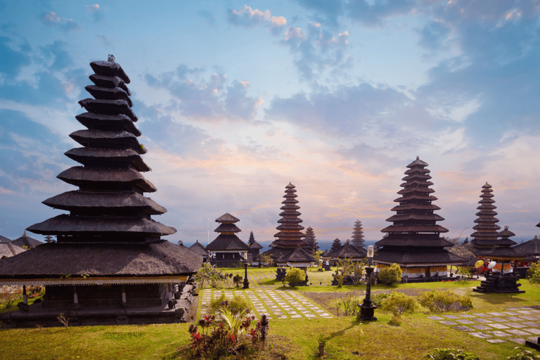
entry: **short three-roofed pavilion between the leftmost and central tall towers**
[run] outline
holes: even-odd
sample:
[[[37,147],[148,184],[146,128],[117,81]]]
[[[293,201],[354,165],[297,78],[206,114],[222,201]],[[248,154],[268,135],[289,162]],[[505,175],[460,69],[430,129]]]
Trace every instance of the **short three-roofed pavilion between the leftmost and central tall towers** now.
[[[210,264],[217,267],[233,267],[248,261],[250,247],[236,236],[236,233],[241,231],[234,224],[238,221],[240,219],[229,213],[216,219],[220,225],[214,231],[219,235],[206,247],[210,252]]]

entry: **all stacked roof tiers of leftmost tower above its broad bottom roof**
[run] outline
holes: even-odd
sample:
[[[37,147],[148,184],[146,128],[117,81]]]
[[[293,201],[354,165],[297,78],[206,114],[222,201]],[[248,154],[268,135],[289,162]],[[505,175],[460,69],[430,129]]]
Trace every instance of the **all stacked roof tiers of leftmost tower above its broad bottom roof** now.
[[[137,139],[141,131],[134,122],[129,77],[110,54],[107,61],[90,63],[95,74],[86,86],[93,98],[79,101],[86,113],[75,116],[87,129],[70,137],[82,148],[65,155],[82,166],[71,167],[58,175],[68,184],[78,186],[44,200],[44,204],[65,210],[62,214],[27,230],[42,235],[56,235],[58,243],[152,243],[176,229],[150,219],[167,212],[165,207],[145,198],[143,193],[156,191],[141,172],[150,171],[141,155],[146,148]],[[130,224],[127,226],[127,224]]]

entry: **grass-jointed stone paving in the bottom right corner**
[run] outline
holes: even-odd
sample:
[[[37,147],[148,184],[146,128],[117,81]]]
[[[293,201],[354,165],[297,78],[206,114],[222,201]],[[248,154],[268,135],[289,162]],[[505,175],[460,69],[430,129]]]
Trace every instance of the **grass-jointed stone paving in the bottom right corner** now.
[[[441,314],[428,318],[494,343],[513,341],[523,345],[525,340],[535,341],[540,336],[540,310],[532,307],[509,307],[475,314]]]

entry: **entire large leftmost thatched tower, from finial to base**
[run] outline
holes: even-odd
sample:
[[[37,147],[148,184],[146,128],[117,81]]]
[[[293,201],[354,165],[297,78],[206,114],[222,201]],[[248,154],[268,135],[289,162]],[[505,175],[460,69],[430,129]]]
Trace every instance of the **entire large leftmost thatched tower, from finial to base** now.
[[[188,281],[203,259],[163,240],[176,229],[151,219],[167,210],[143,195],[156,188],[141,174],[150,167],[141,158],[146,148],[137,139],[129,77],[113,56],[90,66],[94,85],[85,89],[94,98],[79,101],[86,113],[75,116],[87,129],[70,134],[82,147],[65,153],[82,166],[58,175],[77,190],[43,202],[68,214],[27,228],[56,236],[56,242],[0,262],[0,285],[45,285],[39,306],[56,323],[62,311],[70,311],[79,325],[107,316],[113,323],[181,321],[188,305],[165,314],[167,304],[177,294],[176,284]],[[96,308],[101,315],[85,312]],[[15,315],[2,321],[15,321]]]

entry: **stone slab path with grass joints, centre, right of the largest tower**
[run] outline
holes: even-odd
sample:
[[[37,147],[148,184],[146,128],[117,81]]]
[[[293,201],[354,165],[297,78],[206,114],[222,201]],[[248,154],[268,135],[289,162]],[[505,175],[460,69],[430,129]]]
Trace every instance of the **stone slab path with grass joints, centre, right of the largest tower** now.
[[[328,314],[319,305],[314,304],[306,297],[295,291],[274,290],[270,288],[257,288],[255,290],[214,290],[205,289],[199,294],[201,314],[206,314],[210,307],[210,300],[220,297],[221,293],[229,299],[235,296],[243,297],[250,303],[255,316],[259,318],[266,314],[269,319],[328,319],[333,316]]]

